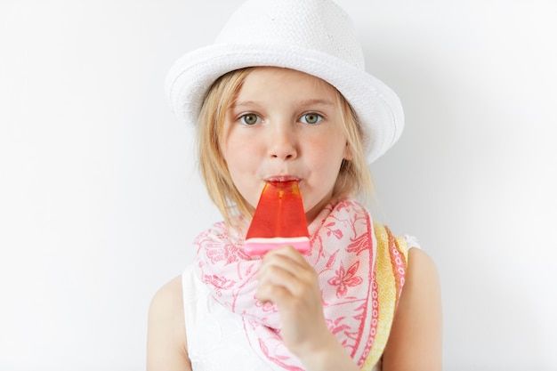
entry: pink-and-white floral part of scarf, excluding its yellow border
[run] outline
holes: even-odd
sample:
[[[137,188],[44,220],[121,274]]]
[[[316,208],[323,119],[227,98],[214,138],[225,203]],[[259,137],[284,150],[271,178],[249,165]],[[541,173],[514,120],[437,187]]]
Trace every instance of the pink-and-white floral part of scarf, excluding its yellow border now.
[[[307,261],[319,275],[327,327],[361,367],[373,345],[378,319],[375,285],[375,235],[364,206],[347,198],[325,207],[309,226]],[[262,305],[254,295],[260,259],[244,254],[245,231],[223,222],[198,236],[196,274],[214,300],[238,313],[246,336],[274,369],[303,370],[280,335],[275,305]]]

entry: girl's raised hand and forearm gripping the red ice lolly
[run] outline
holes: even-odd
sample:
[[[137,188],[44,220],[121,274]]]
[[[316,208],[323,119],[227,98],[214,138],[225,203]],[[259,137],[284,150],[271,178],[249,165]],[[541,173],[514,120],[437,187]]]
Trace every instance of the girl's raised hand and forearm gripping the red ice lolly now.
[[[285,345],[308,370],[338,367],[338,362],[344,370],[357,369],[327,328],[317,273],[302,254],[292,246],[270,251],[258,278],[257,299],[277,305]]]

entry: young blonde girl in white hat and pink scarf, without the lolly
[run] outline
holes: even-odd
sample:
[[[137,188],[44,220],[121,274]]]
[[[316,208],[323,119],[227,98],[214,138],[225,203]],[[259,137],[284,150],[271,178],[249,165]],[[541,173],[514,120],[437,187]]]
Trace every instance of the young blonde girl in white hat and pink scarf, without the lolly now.
[[[222,212],[195,262],[153,298],[147,367],[440,370],[431,259],[355,199],[397,141],[400,101],[364,70],[351,20],[327,0],[250,0],[215,44],[178,60],[174,111],[197,125]],[[243,251],[266,181],[298,181],[311,252]]]

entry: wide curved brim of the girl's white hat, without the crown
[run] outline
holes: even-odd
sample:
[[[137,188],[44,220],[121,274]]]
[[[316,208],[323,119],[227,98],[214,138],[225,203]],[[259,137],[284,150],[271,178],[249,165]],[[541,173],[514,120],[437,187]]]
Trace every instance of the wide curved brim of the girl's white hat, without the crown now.
[[[325,52],[292,45],[212,44],[184,55],[166,78],[174,113],[197,125],[207,90],[217,78],[236,69],[258,66],[296,69],[335,86],[362,125],[369,163],[391,148],[402,133],[402,106],[389,86]]]

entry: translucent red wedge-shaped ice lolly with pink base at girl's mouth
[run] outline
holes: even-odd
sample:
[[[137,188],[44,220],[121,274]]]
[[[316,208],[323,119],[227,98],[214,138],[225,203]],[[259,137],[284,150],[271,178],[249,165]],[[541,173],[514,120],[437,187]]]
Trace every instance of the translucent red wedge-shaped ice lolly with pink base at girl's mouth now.
[[[247,230],[244,250],[249,255],[262,255],[287,245],[302,254],[311,248],[298,181],[267,181]]]

